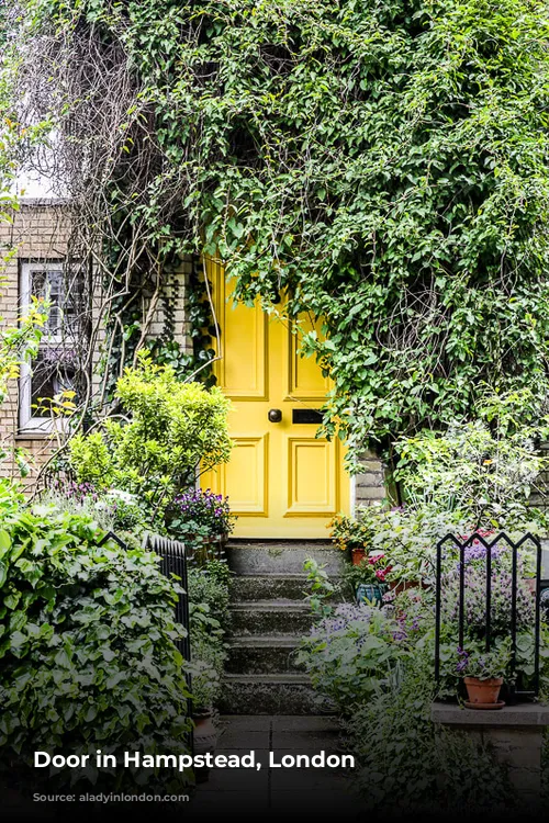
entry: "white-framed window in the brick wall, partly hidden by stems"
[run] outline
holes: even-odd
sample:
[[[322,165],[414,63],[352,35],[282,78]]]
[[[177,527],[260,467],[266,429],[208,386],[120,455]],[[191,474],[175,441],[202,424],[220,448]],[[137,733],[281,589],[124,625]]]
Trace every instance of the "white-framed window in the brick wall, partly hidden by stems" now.
[[[32,297],[45,297],[51,306],[38,354],[21,367],[21,432],[49,431],[52,417],[47,414],[44,399],[75,387],[78,324],[77,294],[75,290],[71,292],[69,294],[66,289],[60,261],[22,263],[20,294],[23,311],[31,304]]]

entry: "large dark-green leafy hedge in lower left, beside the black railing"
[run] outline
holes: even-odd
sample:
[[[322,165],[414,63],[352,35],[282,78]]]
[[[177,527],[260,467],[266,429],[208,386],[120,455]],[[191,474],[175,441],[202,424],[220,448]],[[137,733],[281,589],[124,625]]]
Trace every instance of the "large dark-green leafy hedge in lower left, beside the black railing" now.
[[[182,632],[173,619],[177,587],[156,555],[99,546],[102,537],[81,516],[3,519],[0,745],[19,768],[36,749],[188,751],[187,683],[173,644]],[[145,774],[90,767],[77,777],[82,788],[98,781],[94,792],[180,793],[188,781],[169,770]],[[66,779],[61,770],[52,786]]]

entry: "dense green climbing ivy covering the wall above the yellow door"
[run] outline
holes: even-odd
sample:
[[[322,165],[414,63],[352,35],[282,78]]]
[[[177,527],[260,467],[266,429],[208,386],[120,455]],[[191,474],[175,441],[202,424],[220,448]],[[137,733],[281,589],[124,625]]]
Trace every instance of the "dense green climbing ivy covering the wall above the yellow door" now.
[[[220,256],[242,300],[282,290],[324,318],[304,350],[329,368],[325,430],[350,459],[470,415],[484,383],[542,404],[547,2],[20,5],[24,36],[112,47],[135,82],[101,178],[116,208],[169,252]],[[91,45],[52,60],[52,82]],[[86,99],[69,86],[61,123]]]

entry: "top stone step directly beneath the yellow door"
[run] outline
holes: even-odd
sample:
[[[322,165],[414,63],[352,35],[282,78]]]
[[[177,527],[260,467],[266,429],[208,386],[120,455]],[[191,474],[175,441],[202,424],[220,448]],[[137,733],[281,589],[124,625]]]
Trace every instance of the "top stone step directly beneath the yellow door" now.
[[[294,543],[231,543],[227,546],[229,568],[238,575],[295,575],[303,574],[307,557],[325,564],[329,575],[343,573],[345,556],[330,543],[301,541]]]

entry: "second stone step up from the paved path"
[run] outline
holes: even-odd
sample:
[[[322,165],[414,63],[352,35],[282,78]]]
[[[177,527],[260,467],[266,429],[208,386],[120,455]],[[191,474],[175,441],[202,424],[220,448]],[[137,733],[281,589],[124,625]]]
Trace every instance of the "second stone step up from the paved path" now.
[[[228,646],[227,674],[261,675],[298,672],[299,636],[249,635],[235,638]]]

